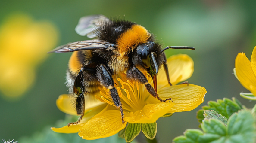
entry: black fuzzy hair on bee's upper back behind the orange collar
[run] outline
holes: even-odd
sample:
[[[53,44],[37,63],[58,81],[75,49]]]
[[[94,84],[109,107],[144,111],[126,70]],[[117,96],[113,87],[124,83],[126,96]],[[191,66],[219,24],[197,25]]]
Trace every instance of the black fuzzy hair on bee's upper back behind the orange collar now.
[[[106,19],[97,27],[95,35],[99,40],[116,43],[118,37],[133,25],[135,25],[135,23],[120,18],[112,18],[112,20]]]

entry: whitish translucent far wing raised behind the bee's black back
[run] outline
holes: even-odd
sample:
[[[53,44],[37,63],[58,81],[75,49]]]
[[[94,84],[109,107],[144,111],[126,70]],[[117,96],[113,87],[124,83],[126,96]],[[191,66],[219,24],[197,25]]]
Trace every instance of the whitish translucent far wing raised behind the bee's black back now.
[[[95,31],[97,26],[105,20],[108,20],[108,18],[104,15],[91,15],[81,17],[75,28],[75,31],[81,36],[87,35],[88,38],[94,38],[95,35],[93,34],[93,31]]]

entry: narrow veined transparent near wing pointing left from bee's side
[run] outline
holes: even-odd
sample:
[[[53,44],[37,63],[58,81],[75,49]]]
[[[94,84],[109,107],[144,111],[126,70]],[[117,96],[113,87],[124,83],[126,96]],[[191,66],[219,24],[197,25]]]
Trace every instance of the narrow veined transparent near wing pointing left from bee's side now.
[[[106,49],[111,50],[115,44],[102,41],[102,40],[86,40],[86,41],[78,41],[69,43],[67,45],[62,45],[48,53],[67,53],[67,52],[74,52],[79,50],[96,50],[96,49]]]

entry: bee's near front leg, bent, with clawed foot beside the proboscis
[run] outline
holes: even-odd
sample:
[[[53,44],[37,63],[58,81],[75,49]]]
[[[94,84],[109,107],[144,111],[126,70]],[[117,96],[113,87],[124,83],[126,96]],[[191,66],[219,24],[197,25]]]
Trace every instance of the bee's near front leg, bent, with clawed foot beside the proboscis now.
[[[151,94],[153,97],[157,98],[159,101],[166,102],[167,100],[172,100],[171,98],[168,98],[166,100],[162,100],[158,96],[157,92],[152,87],[152,85],[148,83],[148,79],[146,78],[146,76],[135,66],[131,66],[126,71],[126,77],[128,78],[128,80],[137,81],[137,82],[139,82],[139,84],[144,84],[148,93]]]

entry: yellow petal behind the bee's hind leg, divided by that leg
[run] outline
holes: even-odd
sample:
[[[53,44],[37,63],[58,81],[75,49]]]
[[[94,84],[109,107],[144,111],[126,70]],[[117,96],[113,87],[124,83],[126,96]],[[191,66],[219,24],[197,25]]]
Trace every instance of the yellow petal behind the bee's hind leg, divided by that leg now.
[[[88,110],[90,108],[93,108],[102,104],[104,103],[96,99],[95,96],[92,96],[92,95],[85,96],[85,110]],[[66,114],[77,115],[75,110],[74,98],[68,96],[67,94],[60,95],[59,98],[56,100],[56,105],[60,111]]]

